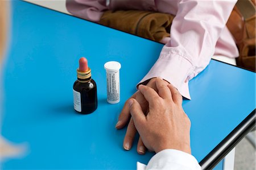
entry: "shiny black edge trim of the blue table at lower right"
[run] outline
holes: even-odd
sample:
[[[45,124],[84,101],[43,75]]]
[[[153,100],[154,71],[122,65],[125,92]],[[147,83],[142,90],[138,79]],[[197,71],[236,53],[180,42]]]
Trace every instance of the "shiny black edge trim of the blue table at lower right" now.
[[[202,169],[213,169],[255,127],[255,109],[203,160]]]

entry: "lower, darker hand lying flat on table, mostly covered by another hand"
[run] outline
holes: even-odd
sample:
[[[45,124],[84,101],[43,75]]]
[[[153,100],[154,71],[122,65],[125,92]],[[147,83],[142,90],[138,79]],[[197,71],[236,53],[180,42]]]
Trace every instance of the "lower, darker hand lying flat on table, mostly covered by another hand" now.
[[[156,78],[151,78],[151,80],[147,83],[147,86],[152,89],[157,90],[155,81],[156,81]],[[167,81],[164,81],[164,84],[167,85],[169,83]],[[146,115],[148,112],[148,102],[144,98],[143,94],[141,92],[137,91],[130,98],[136,99],[136,101],[139,103],[139,105],[141,105],[141,109],[142,109],[143,113]],[[125,148],[125,150],[131,149],[134,137],[137,133],[137,130],[134,126],[133,118],[131,118],[131,115],[130,115],[128,101],[129,101],[129,99],[125,102],[125,105],[123,106],[121,114],[119,115],[117,125],[115,125],[115,128],[120,129],[120,128],[125,127],[125,125],[129,122],[129,124],[127,126],[125,139],[123,139],[123,148]],[[145,154],[145,152],[146,152],[146,148],[141,140],[141,137],[139,138],[139,141],[138,141],[137,152],[139,154]]]

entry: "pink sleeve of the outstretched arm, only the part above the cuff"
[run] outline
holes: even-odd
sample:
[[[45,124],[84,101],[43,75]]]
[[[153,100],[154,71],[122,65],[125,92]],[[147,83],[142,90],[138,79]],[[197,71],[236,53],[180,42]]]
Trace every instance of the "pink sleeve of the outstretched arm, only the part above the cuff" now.
[[[232,12],[234,1],[181,1],[167,47],[183,51],[192,64],[189,79],[201,72],[214,54],[214,47]]]

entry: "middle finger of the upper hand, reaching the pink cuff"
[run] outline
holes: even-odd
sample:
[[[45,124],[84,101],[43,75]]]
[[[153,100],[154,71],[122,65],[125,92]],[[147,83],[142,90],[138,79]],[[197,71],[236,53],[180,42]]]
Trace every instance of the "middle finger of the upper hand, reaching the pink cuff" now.
[[[155,84],[156,84],[156,88],[158,88],[158,94],[160,97],[162,97],[163,99],[172,98],[170,89],[167,87],[167,84],[166,82],[164,82],[164,80],[160,78],[156,78]]]

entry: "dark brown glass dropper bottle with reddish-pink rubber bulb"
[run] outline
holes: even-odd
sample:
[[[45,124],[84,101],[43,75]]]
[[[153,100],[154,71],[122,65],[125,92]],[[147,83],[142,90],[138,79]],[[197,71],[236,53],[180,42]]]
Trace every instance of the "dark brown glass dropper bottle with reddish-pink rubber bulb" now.
[[[73,85],[74,109],[81,114],[89,114],[98,106],[97,86],[84,57],[79,60],[79,65],[77,80]]]

